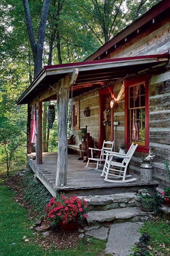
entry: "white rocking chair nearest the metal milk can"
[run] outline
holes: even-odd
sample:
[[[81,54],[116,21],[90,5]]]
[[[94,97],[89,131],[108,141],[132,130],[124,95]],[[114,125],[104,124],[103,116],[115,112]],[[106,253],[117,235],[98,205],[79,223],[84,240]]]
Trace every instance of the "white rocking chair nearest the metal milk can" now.
[[[128,152],[123,155],[119,154],[119,153],[115,153],[115,152],[106,151],[106,153],[107,153],[106,161],[105,161],[105,164],[103,167],[103,172],[101,174],[101,176],[103,176],[103,177],[106,175],[104,178],[104,181],[123,183],[123,182],[131,182],[131,181],[136,180],[136,178],[131,178],[129,180],[125,180],[125,178],[132,176],[132,175],[126,175],[126,171],[127,171],[128,164],[129,164],[132,156],[134,155],[137,146],[138,146],[138,144],[134,145],[134,143],[132,143]],[[112,161],[113,157],[122,158],[123,161],[121,163]],[[115,174],[111,174],[111,173],[109,173],[109,171],[115,171]],[[116,174],[117,172],[118,172],[118,174]],[[122,180],[108,179],[108,175],[114,176],[114,178],[122,179]]]

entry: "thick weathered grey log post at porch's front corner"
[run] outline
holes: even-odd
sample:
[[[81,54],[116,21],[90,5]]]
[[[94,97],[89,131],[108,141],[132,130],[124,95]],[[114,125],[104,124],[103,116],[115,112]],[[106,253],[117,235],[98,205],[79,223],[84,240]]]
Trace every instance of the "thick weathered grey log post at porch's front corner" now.
[[[58,154],[57,154],[57,175],[56,186],[63,186],[67,183],[67,123],[68,123],[68,101],[69,87],[64,88],[65,79],[61,80],[61,87],[57,93],[58,109]]]

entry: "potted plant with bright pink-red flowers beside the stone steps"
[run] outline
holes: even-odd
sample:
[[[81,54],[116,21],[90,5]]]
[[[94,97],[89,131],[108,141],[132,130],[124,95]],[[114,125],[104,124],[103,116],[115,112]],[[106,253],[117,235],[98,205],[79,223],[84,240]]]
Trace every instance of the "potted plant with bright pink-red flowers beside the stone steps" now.
[[[76,196],[66,197],[64,194],[59,199],[51,198],[45,211],[45,220],[52,226],[60,224],[65,232],[76,230],[79,222],[87,217],[86,201]]]

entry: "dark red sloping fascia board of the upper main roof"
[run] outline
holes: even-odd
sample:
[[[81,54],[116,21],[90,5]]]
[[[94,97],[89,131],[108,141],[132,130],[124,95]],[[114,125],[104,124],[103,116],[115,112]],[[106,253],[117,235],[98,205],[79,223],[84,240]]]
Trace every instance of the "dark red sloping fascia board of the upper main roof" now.
[[[136,21],[127,26],[124,30],[120,31],[116,36],[114,36],[107,43],[103,44],[96,52],[92,53],[86,60],[94,60],[104,52],[106,52],[109,48],[113,47],[123,38],[127,37],[129,34],[145,25],[148,21],[152,20],[157,15],[161,14],[163,11],[170,7],[170,0],[162,0],[157,5],[153,6],[149,11],[139,17]]]

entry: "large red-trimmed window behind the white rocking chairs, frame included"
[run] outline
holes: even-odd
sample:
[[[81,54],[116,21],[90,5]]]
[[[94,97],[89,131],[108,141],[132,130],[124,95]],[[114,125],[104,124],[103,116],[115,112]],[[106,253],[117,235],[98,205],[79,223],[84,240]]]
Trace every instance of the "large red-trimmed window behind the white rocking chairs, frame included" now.
[[[148,152],[148,76],[125,81],[125,144]]]

